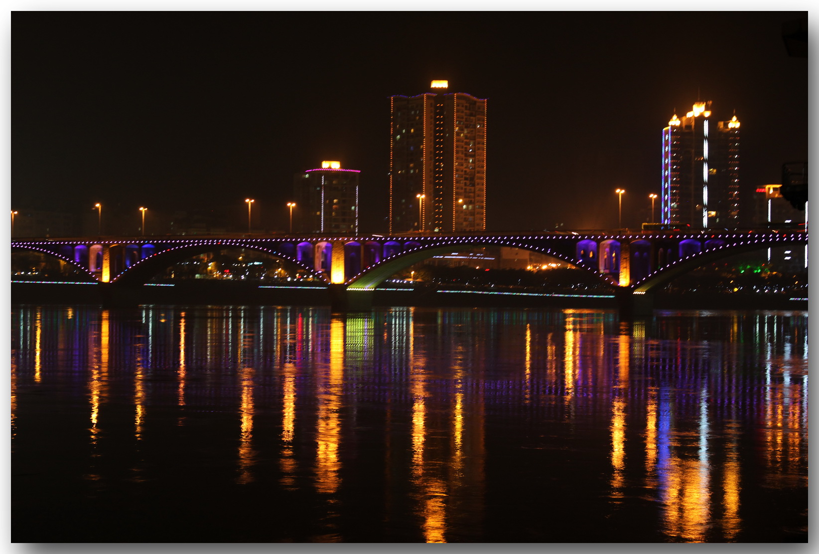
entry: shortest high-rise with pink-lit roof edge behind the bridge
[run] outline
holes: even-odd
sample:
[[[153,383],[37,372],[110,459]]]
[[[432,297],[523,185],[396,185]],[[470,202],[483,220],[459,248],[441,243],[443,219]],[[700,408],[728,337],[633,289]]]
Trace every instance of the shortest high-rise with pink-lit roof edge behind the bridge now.
[[[360,170],[342,169],[338,161],[322,161],[320,168],[296,173],[293,230],[358,234],[359,174]]]

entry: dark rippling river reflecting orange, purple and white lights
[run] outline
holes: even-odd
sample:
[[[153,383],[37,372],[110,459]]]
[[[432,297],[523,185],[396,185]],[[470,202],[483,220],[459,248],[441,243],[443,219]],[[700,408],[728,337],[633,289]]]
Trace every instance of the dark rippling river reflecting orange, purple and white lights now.
[[[808,314],[16,306],[20,543],[808,534]]]

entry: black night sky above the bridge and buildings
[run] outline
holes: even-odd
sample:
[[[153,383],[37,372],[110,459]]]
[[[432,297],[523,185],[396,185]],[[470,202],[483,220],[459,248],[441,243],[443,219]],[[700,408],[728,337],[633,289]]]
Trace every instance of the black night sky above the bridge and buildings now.
[[[488,229],[611,227],[618,187],[638,225],[698,91],[742,123],[747,199],[808,159],[808,60],[781,39],[804,13],[14,12],[11,205],[136,220],[251,197],[283,229],[293,174],[331,159],[362,170],[378,233],[389,97],[432,79],[489,99]]]

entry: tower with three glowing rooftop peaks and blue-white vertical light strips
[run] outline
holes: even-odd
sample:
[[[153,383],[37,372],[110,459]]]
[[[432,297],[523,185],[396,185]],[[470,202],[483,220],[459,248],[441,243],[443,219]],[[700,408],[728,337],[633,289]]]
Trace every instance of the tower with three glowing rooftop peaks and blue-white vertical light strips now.
[[[696,102],[663,129],[662,221],[735,228],[740,216],[740,121],[717,121]]]

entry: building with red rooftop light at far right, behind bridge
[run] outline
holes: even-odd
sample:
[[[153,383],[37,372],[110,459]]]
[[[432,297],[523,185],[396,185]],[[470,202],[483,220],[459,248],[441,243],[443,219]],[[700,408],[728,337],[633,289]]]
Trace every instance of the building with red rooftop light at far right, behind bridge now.
[[[807,211],[791,206],[780,193],[781,184],[766,184],[753,193],[753,225],[771,229],[804,229]],[[767,261],[790,270],[808,267],[808,245],[770,247]]]

